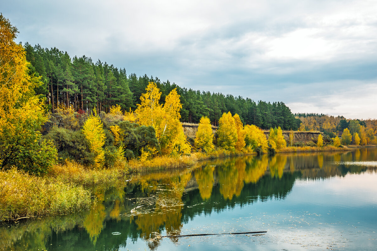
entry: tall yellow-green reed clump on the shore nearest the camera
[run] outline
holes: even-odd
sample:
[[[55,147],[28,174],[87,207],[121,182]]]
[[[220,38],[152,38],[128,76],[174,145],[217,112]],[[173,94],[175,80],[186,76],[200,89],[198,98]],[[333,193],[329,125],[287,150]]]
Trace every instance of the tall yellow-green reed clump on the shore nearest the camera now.
[[[0,172],[0,221],[87,209],[90,192],[16,169]]]

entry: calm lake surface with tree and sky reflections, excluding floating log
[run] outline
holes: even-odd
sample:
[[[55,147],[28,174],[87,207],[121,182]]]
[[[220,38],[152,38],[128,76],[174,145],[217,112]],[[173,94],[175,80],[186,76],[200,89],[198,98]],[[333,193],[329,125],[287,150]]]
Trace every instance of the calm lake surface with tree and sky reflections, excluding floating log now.
[[[80,214],[0,226],[0,250],[377,248],[377,149],[214,160],[95,195]],[[158,238],[247,231],[267,233]]]

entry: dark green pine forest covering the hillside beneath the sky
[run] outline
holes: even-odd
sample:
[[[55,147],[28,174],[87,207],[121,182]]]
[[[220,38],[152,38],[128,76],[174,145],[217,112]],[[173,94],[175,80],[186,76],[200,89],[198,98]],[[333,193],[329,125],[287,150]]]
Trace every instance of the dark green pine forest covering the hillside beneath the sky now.
[[[244,124],[262,129],[280,126],[283,130],[297,130],[301,123],[283,102],[255,102],[241,96],[187,89],[153,76],[138,77],[135,73],[127,76],[124,68],[118,69],[100,60],[94,63],[86,56],[71,58],[57,48],[32,47],[29,43],[25,43],[24,48],[26,60],[31,63],[30,74],[41,76],[43,82],[35,92],[46,97],[52,113],[58,105],[71,106],[77,112],[95,110],[97,114],[108,113],[113,105],[120,105],[123,112],[135,110],[148,83],[155,82],[162,93],[161,104],[176,88],[182,104],[181,122],[198,123],[206,116],[212,125],[218,126],[222,114],[230,111],[239,114]]]

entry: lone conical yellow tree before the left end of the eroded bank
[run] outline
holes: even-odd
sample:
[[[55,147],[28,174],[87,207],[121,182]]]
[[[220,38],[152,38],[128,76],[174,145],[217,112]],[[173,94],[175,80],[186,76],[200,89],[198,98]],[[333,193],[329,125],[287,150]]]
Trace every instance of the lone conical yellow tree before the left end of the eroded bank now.
[[[213,132],[210,119],[208,117],[201,117],[198,131],[195,137],[195,148],[201,149],[204,152],[210,152],[213,146]]]

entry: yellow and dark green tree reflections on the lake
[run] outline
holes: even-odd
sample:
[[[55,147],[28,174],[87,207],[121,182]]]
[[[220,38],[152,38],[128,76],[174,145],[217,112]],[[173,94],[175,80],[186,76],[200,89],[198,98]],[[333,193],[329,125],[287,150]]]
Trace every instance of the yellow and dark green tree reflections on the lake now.
[[[376,157],[375,149],[245,156],[147,173],[106,191],[98,187],[97,202],[86,212],[1,226],[0,250],[115,250],[127,239],[142,239],[153,250],[161,243],[156,236],[181,234],[199,214],[284,199],[296,180],[360,173],[368,167],[352,163]],[[178,244],[176,237],[170,240]]]

